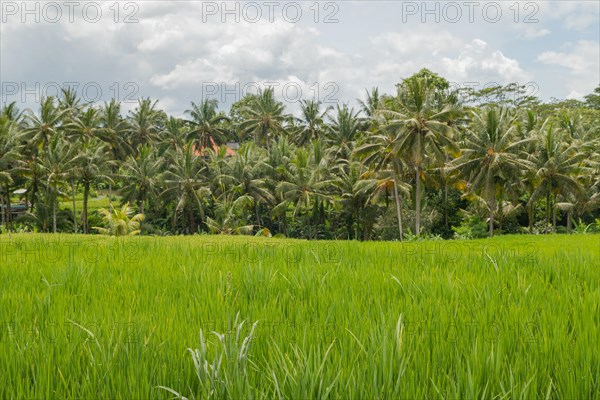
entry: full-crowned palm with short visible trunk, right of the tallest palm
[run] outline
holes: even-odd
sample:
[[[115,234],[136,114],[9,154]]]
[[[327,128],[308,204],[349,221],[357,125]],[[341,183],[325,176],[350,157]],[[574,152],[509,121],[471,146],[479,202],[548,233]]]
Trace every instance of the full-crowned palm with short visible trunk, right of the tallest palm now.
[[[514,192],[519,178],[532,167],[522,148],[531,139],[517,140],[517,116],[508,108],[484,107],[473,112],[461,155],[453,166],[469,180],[469,189],[484,199],[489,212],[489,235],[494,235],[497,197]]]

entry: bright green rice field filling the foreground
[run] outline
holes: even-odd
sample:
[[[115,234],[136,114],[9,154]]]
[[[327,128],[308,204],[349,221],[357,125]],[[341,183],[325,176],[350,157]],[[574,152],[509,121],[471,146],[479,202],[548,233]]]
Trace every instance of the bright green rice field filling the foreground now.
[[[24,234],[0,260],[2,399],[600,398],[600,235]]]

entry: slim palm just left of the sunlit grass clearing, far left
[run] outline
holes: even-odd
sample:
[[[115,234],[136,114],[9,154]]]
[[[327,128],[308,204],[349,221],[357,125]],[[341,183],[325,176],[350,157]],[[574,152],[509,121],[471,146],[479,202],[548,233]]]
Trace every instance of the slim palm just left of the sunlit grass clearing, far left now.
[[[67,180],[78,160],[77,148],[70,146],[62,135],[50,139],[48,147],[38,163],[46,177],[46,187],[52,201],[52,232],[56,233],[56,212],[58,209],[59,187]]]

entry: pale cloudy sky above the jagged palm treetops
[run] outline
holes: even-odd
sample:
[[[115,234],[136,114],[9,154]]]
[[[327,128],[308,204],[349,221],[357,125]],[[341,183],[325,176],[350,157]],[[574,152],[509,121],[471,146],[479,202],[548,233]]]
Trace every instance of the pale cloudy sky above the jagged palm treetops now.
[[[349,102],[426,67],[474,87],[517,82],[543,99],[600,82],[597,1],[0,2],[2,102],[59,86],[125,108],[150,96],[181,115],[274,86]]]

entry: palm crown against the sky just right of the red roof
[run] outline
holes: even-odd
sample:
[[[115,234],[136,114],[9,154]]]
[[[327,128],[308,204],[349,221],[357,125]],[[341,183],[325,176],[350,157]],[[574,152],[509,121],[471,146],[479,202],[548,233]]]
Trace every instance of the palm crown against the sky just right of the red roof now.
[[[250,95],[250,104],[242,109],[245,120],[238,129],[243,135],[252,135],[254,143],[270,146],[271,140],[285,132],[288,117],[284,114],[283,103],[275,99],[273,88]]]

